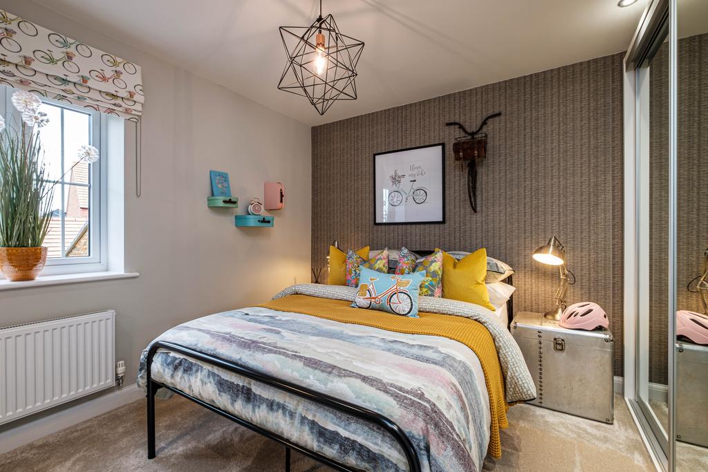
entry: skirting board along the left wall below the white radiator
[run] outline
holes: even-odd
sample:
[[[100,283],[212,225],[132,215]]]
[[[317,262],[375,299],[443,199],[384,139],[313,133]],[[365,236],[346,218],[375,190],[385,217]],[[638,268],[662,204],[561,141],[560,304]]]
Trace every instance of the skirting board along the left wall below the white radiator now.
[[[144,391],[133,384],[98,398],[93,398],[93,400],[79,403],[53,415],[47,415],[11,430],[1,432],[0,454],[5,454],[49,434],[77,425],[82,421],[90,420],[95,416],[102,415],[144,397]]]

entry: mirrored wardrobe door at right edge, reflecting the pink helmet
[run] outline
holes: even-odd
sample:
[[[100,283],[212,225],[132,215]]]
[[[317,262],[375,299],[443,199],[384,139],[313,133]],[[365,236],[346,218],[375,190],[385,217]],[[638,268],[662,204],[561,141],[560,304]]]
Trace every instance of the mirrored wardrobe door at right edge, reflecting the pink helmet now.
[[[677,0],[675,470],[708,470],[708,1]]]

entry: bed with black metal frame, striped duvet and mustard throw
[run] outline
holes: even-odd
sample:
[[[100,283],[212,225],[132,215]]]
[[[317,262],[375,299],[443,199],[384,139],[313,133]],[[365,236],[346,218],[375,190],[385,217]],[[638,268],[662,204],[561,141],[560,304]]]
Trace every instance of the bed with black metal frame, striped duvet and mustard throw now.
[[[421,318],[353,309],[351,287],[299,284],[262,306],[172,328],[142,353],[154,396],[178,393],[338,470],[480,471],[506,409],[535,398],[493,313],[421,297]]]

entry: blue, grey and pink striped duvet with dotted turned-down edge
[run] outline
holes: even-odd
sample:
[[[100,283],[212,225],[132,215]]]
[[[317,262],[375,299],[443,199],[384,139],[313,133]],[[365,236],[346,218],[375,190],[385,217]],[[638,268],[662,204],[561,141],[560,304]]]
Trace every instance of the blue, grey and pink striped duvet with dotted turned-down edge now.
[[[297,285],[275,298],[293,294],[350,301],[355,289]],[[481,323],[496,348],[506,402],[535,397],[518,346],[491,312],[429,297],[421,297],[420,309]],[[438,335],[400,333],[297,311],[265,306],[226,311],[183,323],[156,340],[375,410],[406,432],[423,471],[481,470],[494,418],[484,369],[469,346]],[[365,323],[371,311],[357,311]],[[142,387],[146,354],[147,349],[138,375]],[[158,350],[152,378],[353,468],[407,470],[403,451],[376,425],[218,367]]]

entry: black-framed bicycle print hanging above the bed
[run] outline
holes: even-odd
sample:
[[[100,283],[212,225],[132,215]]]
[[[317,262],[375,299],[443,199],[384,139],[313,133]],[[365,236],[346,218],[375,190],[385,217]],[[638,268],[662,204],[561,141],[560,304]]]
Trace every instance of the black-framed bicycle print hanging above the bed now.
[[[445,223],[445,143],[374,154],[374,224]]]

